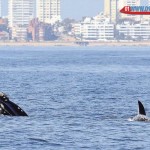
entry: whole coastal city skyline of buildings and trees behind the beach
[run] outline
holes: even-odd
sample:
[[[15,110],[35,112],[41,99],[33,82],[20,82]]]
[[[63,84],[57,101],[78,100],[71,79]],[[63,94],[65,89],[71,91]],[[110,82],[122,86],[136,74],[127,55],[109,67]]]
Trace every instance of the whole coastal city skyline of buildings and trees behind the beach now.
[[[3,8],[4,1],[0,1]],[[124,6],[141,7],[141,4],[150,4],[150,0],[144,2],[105,0],[102,11],[99,9],[92,16],[87,13],[80,20],[76,20],[69,16],[62,18],[62,0],[9,0],[8,15],[0,20],[0,39],[29,42],[150,40],[149,15],[120,12]],[[76,12],[80,13],[81,4],[83,3],[78,3]],[[87,8],[87,3],[84,3],[84,7]],[[88,9],[94,12],[92,7]]]

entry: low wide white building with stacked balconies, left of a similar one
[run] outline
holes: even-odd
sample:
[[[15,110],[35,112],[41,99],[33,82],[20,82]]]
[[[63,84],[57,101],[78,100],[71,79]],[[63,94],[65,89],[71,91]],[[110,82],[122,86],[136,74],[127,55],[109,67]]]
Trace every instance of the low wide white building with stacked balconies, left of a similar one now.
[[[107,41],[114,39],[114,24],[94,18],[86,18],[73,25],[73,33],[79,40]]]

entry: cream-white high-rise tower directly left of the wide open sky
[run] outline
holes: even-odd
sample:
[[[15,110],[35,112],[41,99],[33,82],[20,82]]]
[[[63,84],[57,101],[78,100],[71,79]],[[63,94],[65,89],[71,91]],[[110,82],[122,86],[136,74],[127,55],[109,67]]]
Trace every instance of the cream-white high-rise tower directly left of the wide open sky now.
[[[41,22],[55,23],[61,20],[60,0],[36,0],[36,16]]]

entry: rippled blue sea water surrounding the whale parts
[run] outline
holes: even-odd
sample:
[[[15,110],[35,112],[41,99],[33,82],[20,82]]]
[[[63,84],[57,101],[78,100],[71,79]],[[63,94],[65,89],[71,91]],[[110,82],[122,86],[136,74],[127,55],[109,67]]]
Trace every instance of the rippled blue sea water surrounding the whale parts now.
[[[29,117],[0,118],[2,150],[149,150],[149,47],[0,47],[0,91]]]

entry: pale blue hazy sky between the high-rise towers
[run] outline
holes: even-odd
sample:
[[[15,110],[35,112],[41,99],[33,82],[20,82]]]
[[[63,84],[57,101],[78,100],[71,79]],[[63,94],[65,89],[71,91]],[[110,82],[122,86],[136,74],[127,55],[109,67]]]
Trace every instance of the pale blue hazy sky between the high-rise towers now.
[[[3,2],[3,15],[7,15],[7,0]],[[103,0],[61,0],[62,18],[81,19],[84,16],[95,16],[103,10]]]

